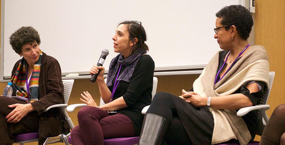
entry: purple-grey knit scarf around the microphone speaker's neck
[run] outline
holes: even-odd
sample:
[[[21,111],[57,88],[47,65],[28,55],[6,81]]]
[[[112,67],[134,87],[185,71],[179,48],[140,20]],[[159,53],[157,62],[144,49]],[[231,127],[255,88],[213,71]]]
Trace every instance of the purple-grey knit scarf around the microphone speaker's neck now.
[[[124,59],[124,56],[120,53],[117,55],[110,63],[109,72],[107,77],[107,86],[112,85],[112,80],[114,79],[116,73],[118,72],[119,65],[122,64],[126,66],[125,70],[118,77],[118,81],[130,82],[132,78],[132,73],[134,72],[135,66],[139,61],[139,58],[146,54],[146,50],[136,50],[131,56]]]

